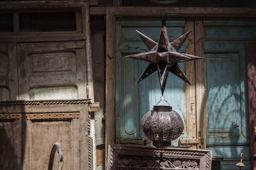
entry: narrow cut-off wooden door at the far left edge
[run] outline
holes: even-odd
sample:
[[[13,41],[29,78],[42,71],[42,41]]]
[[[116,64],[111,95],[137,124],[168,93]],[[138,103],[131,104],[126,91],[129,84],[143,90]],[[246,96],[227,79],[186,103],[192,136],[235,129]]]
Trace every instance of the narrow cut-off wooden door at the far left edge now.
[[[16,100],[17,54],[15,43],[0,43],[0,101]]]

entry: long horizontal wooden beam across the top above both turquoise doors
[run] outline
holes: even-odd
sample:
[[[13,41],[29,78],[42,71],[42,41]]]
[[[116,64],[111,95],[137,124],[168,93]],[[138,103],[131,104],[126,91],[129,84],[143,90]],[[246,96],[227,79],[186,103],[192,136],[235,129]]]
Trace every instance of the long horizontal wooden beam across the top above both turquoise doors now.
[[[200,7],[108,7],[115,16],[177,16],[177,17],[256,17],[254,8],[200,8]],[[90,15],[106,14],[105,7],[91,7]]]

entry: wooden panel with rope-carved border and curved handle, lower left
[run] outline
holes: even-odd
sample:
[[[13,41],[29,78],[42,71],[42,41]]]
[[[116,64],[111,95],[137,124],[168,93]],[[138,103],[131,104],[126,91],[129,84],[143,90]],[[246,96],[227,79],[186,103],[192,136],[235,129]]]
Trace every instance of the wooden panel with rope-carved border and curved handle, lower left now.
[[[47,169],[56,142],[63,148],[63,169],[91,169],[89,104],[90,99],[0,102],[0,169]],[[61,166],[55,157],[53,169]]]

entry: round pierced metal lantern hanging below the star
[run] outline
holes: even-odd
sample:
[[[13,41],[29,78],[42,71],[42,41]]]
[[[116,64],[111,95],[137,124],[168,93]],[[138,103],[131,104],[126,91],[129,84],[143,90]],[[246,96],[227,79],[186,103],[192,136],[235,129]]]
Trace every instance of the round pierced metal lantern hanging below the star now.
[[[171,106],[154,106],[141,120],[141,131],[157,147],[170,146],[184,129],[182,119]]]

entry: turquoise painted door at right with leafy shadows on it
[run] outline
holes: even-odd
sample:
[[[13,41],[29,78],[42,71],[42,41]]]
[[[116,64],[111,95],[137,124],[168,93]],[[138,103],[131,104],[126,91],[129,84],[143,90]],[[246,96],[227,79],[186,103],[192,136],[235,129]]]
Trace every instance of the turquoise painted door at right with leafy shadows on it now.
[[[245,45],[256,39],[256,22],[248,19],[204,18],[209,132],[206,145],[222,155],[219,167],[250,169]]]

